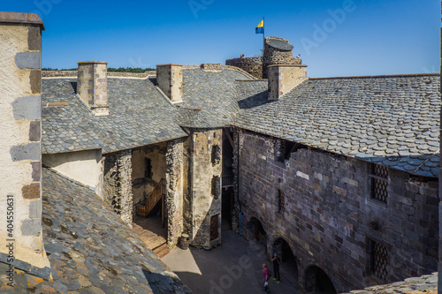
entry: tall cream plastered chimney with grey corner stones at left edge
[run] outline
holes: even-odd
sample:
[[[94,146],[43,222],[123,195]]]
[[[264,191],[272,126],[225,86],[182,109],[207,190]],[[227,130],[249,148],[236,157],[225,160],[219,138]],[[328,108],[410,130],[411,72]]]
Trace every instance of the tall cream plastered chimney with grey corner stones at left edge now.
[[[0,261],[49,278],[42,239],[42,30],[34,13],[0,12]]]

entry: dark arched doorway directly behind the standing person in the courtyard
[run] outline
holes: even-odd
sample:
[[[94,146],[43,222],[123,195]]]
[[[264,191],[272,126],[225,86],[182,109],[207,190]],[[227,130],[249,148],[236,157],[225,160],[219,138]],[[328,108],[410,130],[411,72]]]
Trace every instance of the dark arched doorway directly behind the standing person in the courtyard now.
[[[292,248],[282,237],[273,243],[273,253],[277,253],[281,260],[280,272],[295,285],[298,285],[298,264]]]

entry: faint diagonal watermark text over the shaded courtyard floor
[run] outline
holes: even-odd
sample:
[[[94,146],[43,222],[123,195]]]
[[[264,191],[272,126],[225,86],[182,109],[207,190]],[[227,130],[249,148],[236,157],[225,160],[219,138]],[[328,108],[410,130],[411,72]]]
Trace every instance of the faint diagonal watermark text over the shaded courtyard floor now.
[[[265,249],[255,244],[255,242],[250,242],[248,247],[248,252],[252,256],[261,257],[263,260],[266,259]],[[210,290],[209,294],[225,294],[230,293],[227,291],[232,288],[233,282],[240,280],[241,276],[246,270],[252,268],[252,260],[248,254],[243,254],[240,256],[238,263],[232,265],[231,267],[224,266],[225,275],[220,275],[217,281],[210,280]]]

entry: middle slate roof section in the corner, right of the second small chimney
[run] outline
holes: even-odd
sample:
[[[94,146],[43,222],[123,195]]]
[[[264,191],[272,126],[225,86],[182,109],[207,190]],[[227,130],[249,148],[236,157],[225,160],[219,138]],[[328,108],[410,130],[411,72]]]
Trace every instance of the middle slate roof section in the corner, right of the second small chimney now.
[[[210,128],[232,124],[239,111],[236,79],[247,75],[223,69],[220,72],[183,69],[183,102],[179,124]]]

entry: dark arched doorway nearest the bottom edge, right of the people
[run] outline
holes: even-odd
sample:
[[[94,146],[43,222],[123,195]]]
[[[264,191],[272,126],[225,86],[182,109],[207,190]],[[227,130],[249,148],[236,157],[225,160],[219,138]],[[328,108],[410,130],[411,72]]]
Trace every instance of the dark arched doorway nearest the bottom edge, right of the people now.
[[[306,293],[337,294],[330,277],[316,266],[311,266],[306,271],[305,290]]]

